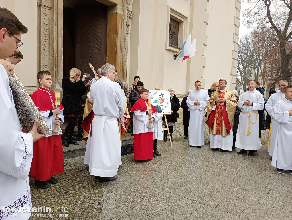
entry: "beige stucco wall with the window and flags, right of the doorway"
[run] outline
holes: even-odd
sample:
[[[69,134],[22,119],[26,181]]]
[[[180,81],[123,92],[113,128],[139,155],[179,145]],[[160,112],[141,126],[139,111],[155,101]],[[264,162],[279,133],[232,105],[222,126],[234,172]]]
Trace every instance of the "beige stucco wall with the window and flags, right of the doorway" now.
[[[234,59],[237,48],[234,44],[236,16],[240,17],[240,0],[133,0],[131,19],[131,51],[129,84],[139,75],[146,88],[175,89],[178,95],[194,89],[194,81],[201,80],[206,90],[219,78],[225,78],[235,87]],[[175,52],[165,49],[167,7],[187,17],[184,40],[192,33],[196,39],[196,55],[182,62],[173,59]],[[238,18],[239,19],[239,18]],[[237,40],[238,43],[238,40]],[[235,45],[235,46],[234,46]],[[236,62],[235,62],[236,63]]]

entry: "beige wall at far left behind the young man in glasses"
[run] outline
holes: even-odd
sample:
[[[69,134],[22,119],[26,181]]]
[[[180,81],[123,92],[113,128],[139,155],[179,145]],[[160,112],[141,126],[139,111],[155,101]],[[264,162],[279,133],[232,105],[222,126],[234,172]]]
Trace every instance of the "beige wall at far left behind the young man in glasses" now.
[[[23,45],[19,47],[23,60],[14,70],[24,86],[36,86],[36,0],[0,0],[0,6],[10,10],[28,28],[22,35]]]

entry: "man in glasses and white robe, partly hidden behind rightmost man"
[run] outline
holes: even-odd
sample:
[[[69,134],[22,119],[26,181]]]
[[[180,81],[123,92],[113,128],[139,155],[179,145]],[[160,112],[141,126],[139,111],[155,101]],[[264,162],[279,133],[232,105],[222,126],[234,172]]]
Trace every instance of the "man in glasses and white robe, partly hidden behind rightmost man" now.
[[[288,85],[288,82],[285,79],[282,79],[279,81],[279,90],[277,93],[274,93],[270,96],[269,100],[267,101],[265,108],[269,115],[272,116],[272,109],[275,105],[275,103],[279,100],[282,100],[285,98],[285,88]],[[270,131],[268,135],[267,145],[268,145],[268,153],[270,156],[273,156],[274,151],[274,144],[275,144],[275,138],[276,138],[276,130],[278,127],[279,122],[273,120],[271,118],[271,125],[270,125]],[[272,160],[272,157],[271,157]]]

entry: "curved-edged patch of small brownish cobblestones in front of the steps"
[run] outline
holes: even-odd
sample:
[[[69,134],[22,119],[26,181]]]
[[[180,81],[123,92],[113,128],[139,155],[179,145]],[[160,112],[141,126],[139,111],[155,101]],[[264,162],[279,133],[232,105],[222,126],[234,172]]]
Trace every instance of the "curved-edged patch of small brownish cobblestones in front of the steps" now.
[[[34,180],[30,179],[33,207],[51,207],[52,211],[55,207],[68,208],[68,211],[59,209],[53,213],[37,213],[45,217],[32,215],[30,219],[98,219],[103,201],[101,186],[89,175],[83,160],[84,156],[64,160],[65,172],[54,176],[59,183],[49,184],[48,189],[37,188]],[[60,214],[67,216],[60,217]]]

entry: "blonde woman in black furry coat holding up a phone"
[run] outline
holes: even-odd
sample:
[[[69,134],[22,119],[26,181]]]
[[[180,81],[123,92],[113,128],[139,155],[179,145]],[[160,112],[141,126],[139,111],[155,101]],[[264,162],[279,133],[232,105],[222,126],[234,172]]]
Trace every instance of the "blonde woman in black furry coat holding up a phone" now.
[[[69,147],[70,144],[79,145],[75,140],[74,129],[77,117],[80,117],[83,113],[83,106],[81,96],[86,92],[87,86],[90,85],[88,81],[84,85],[86,75],[83,75],[80,80],[81,71],[77,68],[72,68],[67,77],[62,80],[63,87],[63,99],[62,105],[64,106],[63,114],[68,117],[68,124],[65,129],[63,145]],[[70,133],[70,139],[68,134]]]

